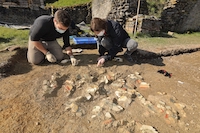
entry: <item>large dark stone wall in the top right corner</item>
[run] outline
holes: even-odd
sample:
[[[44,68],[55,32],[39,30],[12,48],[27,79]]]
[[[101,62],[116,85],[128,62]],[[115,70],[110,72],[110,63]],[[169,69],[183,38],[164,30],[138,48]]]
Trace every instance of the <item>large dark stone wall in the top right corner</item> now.
[[[200,31],[200,0],[168,1],[161,20],[163,31]]]

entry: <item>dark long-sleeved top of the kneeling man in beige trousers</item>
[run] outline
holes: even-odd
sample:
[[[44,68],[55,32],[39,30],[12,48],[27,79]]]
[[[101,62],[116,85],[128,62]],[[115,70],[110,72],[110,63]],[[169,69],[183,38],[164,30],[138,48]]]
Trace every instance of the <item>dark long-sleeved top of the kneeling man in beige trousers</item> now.
[[[69,43],[69,30],[63,34],[56,31],[53,17],[43,15],[38,17],[31,26],[29,36],[31,41],[55,41],[57,38],[63,37],[64,46],[70,46]]]

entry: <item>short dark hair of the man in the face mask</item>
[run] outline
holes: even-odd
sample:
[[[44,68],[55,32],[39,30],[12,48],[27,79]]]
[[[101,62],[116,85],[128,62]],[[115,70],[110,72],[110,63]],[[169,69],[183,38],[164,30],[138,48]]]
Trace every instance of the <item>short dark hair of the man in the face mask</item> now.
[[[54,18],[63,26],[69,27],[71,23],[71,17],[68,12],[63,9],[59,9],[55,12]]]

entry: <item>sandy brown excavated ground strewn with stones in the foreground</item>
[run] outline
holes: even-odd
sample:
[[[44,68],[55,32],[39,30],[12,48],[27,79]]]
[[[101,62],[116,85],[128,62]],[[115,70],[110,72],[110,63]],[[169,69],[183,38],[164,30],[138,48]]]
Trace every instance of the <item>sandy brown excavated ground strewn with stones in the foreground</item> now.
[[[34,66],[27,62],[26,50],[20,50],[12,57],[9,76],[0,80],[0,132],[199,133],[200,51],[152,58],[140,54],[133,54],[134,64],[110,61],[96,67],[97,51],[84,49],[76,55],[78,66]],[[161,69],[171,78],[157,72]],[[130,78],[136,72],[137,80]],[[44,81],[55,74],[57,85],[46,94]],[[66,80],[72,81],[70,95]],[[139,82],[149,87],[141,88]],[[95,85],[101,91],[89,93]],[[131,102],[123,106],[116,91]],[[91,98],[84,99],[88,94]],[[113,104],[123,109],[114,111]],[[96,107],[101,109],[95,113]]]

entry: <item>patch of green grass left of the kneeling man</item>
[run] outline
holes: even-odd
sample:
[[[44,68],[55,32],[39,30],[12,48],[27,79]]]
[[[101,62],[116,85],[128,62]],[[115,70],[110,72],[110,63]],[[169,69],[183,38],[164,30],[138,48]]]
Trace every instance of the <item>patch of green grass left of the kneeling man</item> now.
[[[0,49],[10,45],[26,46],[29,30],[0,27]]]

